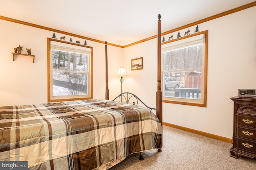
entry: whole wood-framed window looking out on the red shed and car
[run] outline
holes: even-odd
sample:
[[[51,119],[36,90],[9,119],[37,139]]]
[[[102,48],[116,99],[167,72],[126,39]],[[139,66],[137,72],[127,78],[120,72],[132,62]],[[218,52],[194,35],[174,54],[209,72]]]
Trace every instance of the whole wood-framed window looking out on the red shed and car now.
[[[208,31],[162,43],[163,102],[206,107]]]

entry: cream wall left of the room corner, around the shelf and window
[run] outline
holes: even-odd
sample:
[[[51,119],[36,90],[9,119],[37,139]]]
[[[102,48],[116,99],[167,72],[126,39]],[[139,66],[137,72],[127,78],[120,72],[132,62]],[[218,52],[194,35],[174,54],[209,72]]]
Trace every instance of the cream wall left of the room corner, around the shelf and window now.
[[[47,37],[53,32],[27,25],[0,20],[0,106],[37,104],[47,102]],[[69,35],[55,33],[57,39]],[[72,41],[84,43],[85,39],[72,37]],[[105,98],[105,44],[86,40],[87,45],[93,47],[93,98]],[[18,45],[32,49],[36,55],[34,63],[32,57],[14,56],[12,53]],[[119,64],[122,61],[122,48],[108,45],[110,89],[113,89],[114,79]],[[113,76],[114,75],[114,76]],[[118,92],[116,93],[116,96]]]

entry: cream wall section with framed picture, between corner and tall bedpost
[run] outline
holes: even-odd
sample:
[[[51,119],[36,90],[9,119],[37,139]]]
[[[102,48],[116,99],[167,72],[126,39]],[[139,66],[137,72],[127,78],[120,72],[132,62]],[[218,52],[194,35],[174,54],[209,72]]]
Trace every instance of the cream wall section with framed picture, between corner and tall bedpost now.
[[[147,106],[154,108],[156,108],[157,91],[156,47],[157,39],[152,39],[124,48],[124,67],[128,76],[124,77],[123,92],[135,94]],[[139,57],[143,57],[143,69],[131,70],[131,59]]]

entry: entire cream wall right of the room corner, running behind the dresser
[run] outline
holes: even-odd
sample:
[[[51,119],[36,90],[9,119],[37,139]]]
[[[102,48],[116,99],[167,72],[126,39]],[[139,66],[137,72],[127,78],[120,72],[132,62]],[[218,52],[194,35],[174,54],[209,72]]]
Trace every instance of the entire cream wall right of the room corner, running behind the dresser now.
[[[233,102],[239,88],[256,89],[256,7],[198,24],[208,29],[207,107],[163,103],[163,121],[182,127],[232,138]],[[162,17],[164,18],[164,17]],[[162,20],[162,25],[168,21]],[[157,23],[156,23],[157,24]],[[194,33],[196,25],[188,29]],[[165,30],[166,31],[166,30]],[[176,38],[177,32],[171,33]],[[169,35],[164,35],[167,40]],[[146,104],[155,106],[157,91],[156,39],[124,49],[126,67],[130,60],[143,57],[143,70],[130,71],[124,86]]]

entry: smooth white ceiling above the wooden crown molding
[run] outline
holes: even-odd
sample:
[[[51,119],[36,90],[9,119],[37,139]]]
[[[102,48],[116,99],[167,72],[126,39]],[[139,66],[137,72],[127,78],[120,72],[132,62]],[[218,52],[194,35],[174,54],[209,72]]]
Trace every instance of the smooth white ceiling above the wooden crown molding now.
[[[249,4],[255,0],[0,0],[0,16],[116,45]]]

